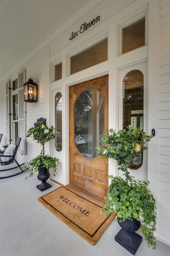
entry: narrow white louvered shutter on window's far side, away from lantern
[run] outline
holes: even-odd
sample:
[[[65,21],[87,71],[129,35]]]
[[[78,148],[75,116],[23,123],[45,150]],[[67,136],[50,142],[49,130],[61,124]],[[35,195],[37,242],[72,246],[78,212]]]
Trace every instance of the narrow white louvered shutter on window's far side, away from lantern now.
[[[6,129],[7,129],[7,144],[10,144],[10,80],[6,82]]]

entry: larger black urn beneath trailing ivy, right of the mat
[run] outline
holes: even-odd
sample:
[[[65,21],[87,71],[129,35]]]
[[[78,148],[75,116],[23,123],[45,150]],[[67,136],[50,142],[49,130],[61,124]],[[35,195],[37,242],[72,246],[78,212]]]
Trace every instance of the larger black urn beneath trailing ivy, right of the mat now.
[[[135,233],[140,228],[140,221],[132,218],[132,220],[121,221],[118,217],[118,223],[121,226],[121,230],[115,236],[115,241],[122,245],[128,252],[135,255],[139,248],[142,237]]]

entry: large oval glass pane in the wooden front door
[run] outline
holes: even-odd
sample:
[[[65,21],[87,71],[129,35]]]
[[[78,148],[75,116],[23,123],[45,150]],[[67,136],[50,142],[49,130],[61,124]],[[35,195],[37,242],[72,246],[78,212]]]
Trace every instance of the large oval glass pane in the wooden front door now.
[[[96,89],[83,91],[74,107],[74,141],[80,154],[87,158],[97,155],[96,146],[105,132],[105,103]]]

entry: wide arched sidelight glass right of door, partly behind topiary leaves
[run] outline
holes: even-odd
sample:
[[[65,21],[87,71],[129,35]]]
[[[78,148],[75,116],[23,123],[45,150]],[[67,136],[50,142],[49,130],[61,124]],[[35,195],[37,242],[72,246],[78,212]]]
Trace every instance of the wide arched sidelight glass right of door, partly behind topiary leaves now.
[[[132,70],[123,80],[123,127],[129,124],[143,130],[143,73]],[[130,169],[137,170],[142,166],[143,152],[136,155],[135,163]]]

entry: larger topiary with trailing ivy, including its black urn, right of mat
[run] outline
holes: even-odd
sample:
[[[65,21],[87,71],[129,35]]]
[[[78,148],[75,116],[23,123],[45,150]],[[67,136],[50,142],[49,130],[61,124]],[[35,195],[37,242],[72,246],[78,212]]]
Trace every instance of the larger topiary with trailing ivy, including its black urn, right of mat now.
[[[115,240],[133,255],[142,241],[142,238],[137,238],[138,235],[134,233],[140,227],[140,218],[141,232],[148,246],[156,248],[156,238],[153,235],[156,225],[156,207],[155,199],[148,188],[149,181],[135,181],[128,171],[128,166],[134,163],[136,154],[147,149],[144,145],[152,137],[153,135],[148,136],[139,128],[129,125],[127,129],[119,130],[117,133],[110,129],[101,137],[105,146],[96,147],[99,151],[98,155],[104,157],[106,161],[109,158],[115,159],[119,166],[118,169],[122,170],[125,175],[125,179],[113,177],[113,175],[108,176],[111,178],[111,184],[104,198],[107,203],[103,205],[101,212],[104,211],[107,216],[112,212],[117,212],[118,222],[122,228],[127,227],[127,222],[137,223],[137,227],[131,232],[131,237],[127,237],[127,230],[121,230],[115,237]],[[136,241],[133,242],[133,240]],[[136,248],[129,249],[129,247]]]

